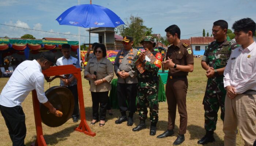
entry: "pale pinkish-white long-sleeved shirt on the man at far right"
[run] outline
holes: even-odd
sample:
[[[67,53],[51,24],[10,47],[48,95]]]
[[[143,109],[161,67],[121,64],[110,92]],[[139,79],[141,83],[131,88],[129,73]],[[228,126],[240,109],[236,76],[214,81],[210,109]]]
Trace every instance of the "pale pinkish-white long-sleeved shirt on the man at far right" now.
[[[232,86],[241,94],[256,91],[256,43],[233,50],[224,70],[224,87]]]

